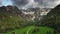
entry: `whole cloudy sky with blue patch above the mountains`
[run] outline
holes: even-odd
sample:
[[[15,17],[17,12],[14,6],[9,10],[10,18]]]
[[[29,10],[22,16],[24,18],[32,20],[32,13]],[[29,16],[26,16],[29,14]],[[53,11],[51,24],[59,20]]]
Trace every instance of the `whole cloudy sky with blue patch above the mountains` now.
[[[20,9],[53,8],[60,4],[60,0],[0,0],[0,6],[14,5]]]

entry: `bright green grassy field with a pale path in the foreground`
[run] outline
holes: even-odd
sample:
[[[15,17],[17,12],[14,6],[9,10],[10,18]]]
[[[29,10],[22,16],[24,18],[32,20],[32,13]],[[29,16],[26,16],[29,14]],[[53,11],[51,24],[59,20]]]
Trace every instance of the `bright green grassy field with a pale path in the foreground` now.
[[[37,32],[34,32],[34,29],[39,29]],[[12,32],[16,32],[16,34],[47,34],[47,31],[51,32],[51,34],[54,34],[54,29],[49,27],[36,27],[36,26],[28,26],[26,28],[14,30],[11,32],[8,32],[6,34],[12,34]]]

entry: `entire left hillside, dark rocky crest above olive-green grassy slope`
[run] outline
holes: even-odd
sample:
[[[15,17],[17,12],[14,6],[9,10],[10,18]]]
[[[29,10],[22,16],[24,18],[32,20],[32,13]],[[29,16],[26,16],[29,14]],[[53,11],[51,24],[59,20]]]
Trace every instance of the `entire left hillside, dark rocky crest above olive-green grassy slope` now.
[[[27,21],[20,15],[21,12],[15,6],[0,7],[0,34],[14,29],[20,29]]]

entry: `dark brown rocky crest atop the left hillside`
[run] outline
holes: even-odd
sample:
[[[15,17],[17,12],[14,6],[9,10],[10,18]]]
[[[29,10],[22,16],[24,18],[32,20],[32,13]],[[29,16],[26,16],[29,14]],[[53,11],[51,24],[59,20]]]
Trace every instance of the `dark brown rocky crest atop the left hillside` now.
[[[0,7],[0,13],[2,14],[11,14],[11,15],[20,15],[22,12],[16,6],[2,6]]]

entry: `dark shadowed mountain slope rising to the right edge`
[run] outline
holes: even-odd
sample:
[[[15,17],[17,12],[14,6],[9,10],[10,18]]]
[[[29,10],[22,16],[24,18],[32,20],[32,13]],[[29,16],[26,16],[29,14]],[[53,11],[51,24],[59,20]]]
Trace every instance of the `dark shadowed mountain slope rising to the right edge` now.
[[[42,20],[41,23],[57,29],[60,32],[60,4],[53,8]]]

